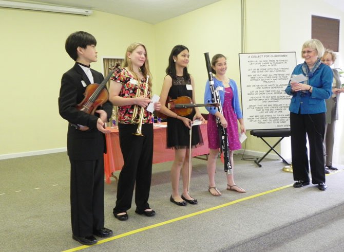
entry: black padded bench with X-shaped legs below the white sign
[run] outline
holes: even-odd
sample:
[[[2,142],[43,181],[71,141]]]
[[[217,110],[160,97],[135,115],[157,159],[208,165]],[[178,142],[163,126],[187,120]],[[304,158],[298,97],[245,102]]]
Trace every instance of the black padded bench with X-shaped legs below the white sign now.
[[[259,137],[262,139],[266,145],[270,147],[270,150],[267,151],[264,156],[262,156],[259,160],[255,160],[255,163],[261,167],[261,160],[263,160],[267,154],[269,154],[271,151],[274,151],[282,160],[285,164],[290,165],[285,159],[274,149],[280,141],[286,136],[290,136],[290,129],[273,129],[273,130],[251,130],[250,132],[251,135]],[[280,139],[274,144],[274,146],[271,146],[269,142],[265,141],[263,137],[280,137]]]

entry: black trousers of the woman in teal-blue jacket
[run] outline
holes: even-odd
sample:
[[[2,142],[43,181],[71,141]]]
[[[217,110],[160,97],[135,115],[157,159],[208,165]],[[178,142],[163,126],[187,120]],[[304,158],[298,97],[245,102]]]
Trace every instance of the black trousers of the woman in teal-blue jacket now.
[[[325,113],[295,114],[290,113],[292,142],[292,165],[295,181],[309,181],[307,138],[310,147],[310,166],[312,183],[325,183],[323,160],[323,137],[325,133]]]

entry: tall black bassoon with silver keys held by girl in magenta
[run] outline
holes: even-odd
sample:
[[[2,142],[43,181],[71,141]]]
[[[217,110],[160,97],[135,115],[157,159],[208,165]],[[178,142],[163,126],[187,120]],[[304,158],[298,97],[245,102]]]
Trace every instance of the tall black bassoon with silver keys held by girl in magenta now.
[[[214,88],[214,79],[211,68],[211,63],[209,59],[209,52],[204,53],[206,69],[208,71],[209,87],[212,92],[212,101],[218,103],[218,110],[223,115],[222,104],[219,96],[219,91]],[[230,147],[228,146],[228,136],[227,131],[221,125],[220,118],[216,117],[217,129],[219,130],[219,135],[221,137],[221,150],[224,158],[224,172],[227,174],[233,174],[231,158],[230,158]]]

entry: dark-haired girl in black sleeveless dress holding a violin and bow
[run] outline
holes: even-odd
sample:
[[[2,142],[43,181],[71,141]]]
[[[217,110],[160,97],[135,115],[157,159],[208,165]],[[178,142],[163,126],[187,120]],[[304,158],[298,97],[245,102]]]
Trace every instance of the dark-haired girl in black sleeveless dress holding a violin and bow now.
[[[167,148],[175,150],[175,160],[171,168],[172,193],[170,201],[178,206],[197,204],[197,200],[188,194],[189,179],[189,130],[192,120],[204,118],[195,107],[194,112],[188,116],[179,116],[165,106],[167,97],[177,99],[180,96],[188,96],[195,102],[194,78],[187,72],[189,63],[189,50],[186,46],[176,45],[168,58],[168,67],[161,90],[160,102],[161,113],[167,116]],[[193,147],[203,145],[201,131],[198,126],[193,127],[192,142]],[[179,177],[182,171],[183,192],[179,194]]]

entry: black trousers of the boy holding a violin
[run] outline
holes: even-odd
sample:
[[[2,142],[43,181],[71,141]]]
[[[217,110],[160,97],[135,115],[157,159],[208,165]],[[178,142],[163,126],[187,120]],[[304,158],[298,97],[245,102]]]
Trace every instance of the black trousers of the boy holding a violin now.
[[[104,227],[104,158],[70,160],[70,209],[73,235],[91,236]]]

